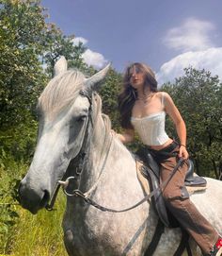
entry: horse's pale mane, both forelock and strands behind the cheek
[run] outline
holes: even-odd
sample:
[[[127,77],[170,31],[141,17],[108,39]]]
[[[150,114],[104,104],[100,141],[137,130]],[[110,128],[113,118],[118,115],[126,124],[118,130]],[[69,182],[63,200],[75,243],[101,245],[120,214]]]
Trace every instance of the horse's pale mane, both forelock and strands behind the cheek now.
[[[78,96],[80,90],[83,88],[83,83],[85,76],[78,70],[72,69],[57,75],[54,77],[48,85],[45,87],[44,91],[39,98],[39,108],[47,116],[55,118],[56,115],[66,106],[72,104],[75,98]],[[104,144],[103,149],[110,142],[110,128],[111,122],[107,115],[102,113],[102,99],[99,94],[92,94],[92,120],[93,133],[95,137],[100,137],[101,134],[101,123],[99,116],[103,118],[104,124]],[[95,143],[95,142],[94,142]]]

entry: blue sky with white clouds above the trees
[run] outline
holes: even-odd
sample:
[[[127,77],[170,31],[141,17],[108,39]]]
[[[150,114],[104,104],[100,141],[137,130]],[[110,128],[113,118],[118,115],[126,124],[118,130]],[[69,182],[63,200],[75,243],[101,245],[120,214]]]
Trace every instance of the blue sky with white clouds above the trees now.
[[[222,78],[221,0],[42,0],[48,22],[74,35],[97,69],[108,62],[123,72],[132,62],[151,66],[159,84],[185,67]]]

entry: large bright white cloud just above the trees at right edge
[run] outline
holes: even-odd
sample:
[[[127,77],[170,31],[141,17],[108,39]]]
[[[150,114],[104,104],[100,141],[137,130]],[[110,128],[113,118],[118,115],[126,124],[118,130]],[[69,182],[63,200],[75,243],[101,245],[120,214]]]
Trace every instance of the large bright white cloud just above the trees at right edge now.
[[[192,66],[196,69],[205,69],[217,75],[222,80],[222,47],[209,48],[204,51],[186,52],[164,63],[156,77],[161,85],[173,81],[175,77],[183,75],[185,67]]]

